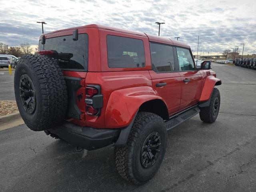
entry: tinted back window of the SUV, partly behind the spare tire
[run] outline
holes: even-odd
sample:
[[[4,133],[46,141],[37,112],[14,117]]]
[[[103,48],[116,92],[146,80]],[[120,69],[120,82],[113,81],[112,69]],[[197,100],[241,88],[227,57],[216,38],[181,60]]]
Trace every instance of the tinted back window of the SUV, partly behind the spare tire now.
[[[79,34],[74,41],[72,35],[49,38],[45,44],[39,41],[38,50],[56,50],[59,54],[59,65],[63,69],[88,69],[88,35]]]

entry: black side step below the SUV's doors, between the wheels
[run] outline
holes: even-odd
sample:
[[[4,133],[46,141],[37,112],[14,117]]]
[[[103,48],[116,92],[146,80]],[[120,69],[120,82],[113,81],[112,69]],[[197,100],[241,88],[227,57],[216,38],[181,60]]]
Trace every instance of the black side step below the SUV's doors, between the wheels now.
[[[200,109],[198,107],[192,107],[188,108],[187,110],[184,110],[170,118],[170,120],[165,122],[165,126],[167,130],[170,130],[179,124],[183,123],[184,121],[192,118],[196,114],[200,112]]]

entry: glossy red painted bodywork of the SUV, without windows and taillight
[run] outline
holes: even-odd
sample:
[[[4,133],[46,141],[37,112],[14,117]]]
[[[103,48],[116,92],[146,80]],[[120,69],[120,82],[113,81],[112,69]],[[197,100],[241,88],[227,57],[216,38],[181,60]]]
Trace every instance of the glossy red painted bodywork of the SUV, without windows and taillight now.
[[[76,92],[77,96],[82,95],[82,98],[76,100],[82,112],[81,119],[66,119],[74,124],[93,128],[122,128],[130,124],[144,102],[154,99],[162,100],[166,104],[168,115],[171,116],[198,102],[208,100],[216,82],[220,81],[212,70],[154,72],[151,66],[150,41],[190,49],[188,45],[169,38],[96,24],[43,35],[46,39],[72,35],[74,29],[78,29],[78,34],[88,34],[88,72],[62,71],[64,76],[81,78],[81,87]],[[109,68],[107,35],[142,40],[145,67]],[[190,82],[183,82],[186,78],[190,79]],[[164,82],[166,86],[156,87],[157,83]],[[103,107],[98,116],[86,114],[85,88],[89,84],[100,85],[103,95]]]

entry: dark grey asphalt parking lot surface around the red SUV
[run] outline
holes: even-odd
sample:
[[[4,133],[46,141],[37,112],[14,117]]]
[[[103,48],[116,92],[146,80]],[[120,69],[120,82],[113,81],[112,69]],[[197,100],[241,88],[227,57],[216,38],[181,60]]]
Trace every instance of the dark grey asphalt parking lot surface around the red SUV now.
[[[256,191],[256,70],[216,63],[212,69],[222,80],[216,122],[197,115],[170,130],[150,182],[135,186],[120,178],[112,146],[84,157],[75,146],[21,125],[0,132],[0,191]],[[1,90],[13,81],[8,76],[5,84],[4,76]],[[1,91],[0,99],[5,95]]]

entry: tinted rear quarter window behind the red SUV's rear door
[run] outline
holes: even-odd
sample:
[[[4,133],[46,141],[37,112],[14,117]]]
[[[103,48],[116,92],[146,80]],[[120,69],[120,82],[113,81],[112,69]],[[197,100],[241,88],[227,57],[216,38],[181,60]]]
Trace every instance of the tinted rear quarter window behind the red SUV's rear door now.
[[[134,38],[107,35],[108,67],[145,67],[143,41]]]

